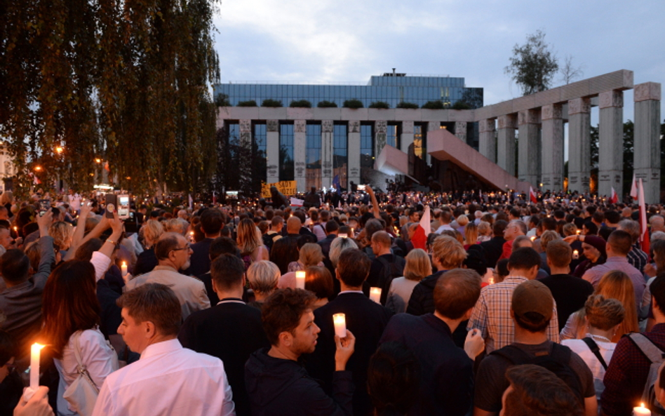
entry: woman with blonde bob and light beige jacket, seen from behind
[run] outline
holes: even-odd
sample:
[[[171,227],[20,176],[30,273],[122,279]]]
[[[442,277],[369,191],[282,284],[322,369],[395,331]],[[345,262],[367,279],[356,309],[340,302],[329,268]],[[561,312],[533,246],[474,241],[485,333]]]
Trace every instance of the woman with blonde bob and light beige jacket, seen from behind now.
[[[432,274],[429,255],[422,248],[415,248],[406,255],[404,276],[393,279],[388,290],[386,307],[396,314],[406,311],[413,288],[425,277]]]

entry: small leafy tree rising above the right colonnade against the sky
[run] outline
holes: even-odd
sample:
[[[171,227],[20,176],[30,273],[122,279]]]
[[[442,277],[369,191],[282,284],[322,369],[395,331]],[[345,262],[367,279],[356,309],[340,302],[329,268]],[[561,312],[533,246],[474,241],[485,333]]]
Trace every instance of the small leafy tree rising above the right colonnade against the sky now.
[[[513,57],[504,71],[522,88],[523,95],[530,95],[548,89],[558,69],[555,53],[538,30],[527,36],[524,45],[513,47]]]

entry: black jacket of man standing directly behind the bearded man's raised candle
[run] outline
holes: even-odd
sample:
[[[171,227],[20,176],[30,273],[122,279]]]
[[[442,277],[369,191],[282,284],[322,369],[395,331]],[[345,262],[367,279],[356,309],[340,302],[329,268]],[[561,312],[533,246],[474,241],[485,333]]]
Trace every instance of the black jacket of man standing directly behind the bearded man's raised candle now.
[[[321,333],[318,334],[316,350],[304,359],[309,374],[323,381],[323,388],[328,394],[333,389],[333,375],[336,373],[333,314],[345,314],[347,329],[356,337],[354,355],[347,363],[347,370],[353,374],[356,385],[354,415],[370,415],[372,403],[366,389],[367,366],[392,312],[362,293],[341,293],[335,300],[314,311],[314,322],[321,328]]]

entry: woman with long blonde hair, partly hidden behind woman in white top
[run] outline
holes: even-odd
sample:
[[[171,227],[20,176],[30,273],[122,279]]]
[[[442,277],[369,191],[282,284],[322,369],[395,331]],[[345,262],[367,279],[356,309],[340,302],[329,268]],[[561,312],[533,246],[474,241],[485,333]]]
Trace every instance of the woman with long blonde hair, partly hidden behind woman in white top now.
[[[616,299],[622,303],[626,316],[612,337],[612,342],[619,342],[621,337],[628,333],[640,332],[638,326],[637,306],[635,304],[635,290],[633,282],[623,271],[612,270],[598,282],[594,295],[603,295],[607,299]],[[571,314],[565,327],[561,330],[561,340],[582,340],[586,334],[586,313],[584,309]]]

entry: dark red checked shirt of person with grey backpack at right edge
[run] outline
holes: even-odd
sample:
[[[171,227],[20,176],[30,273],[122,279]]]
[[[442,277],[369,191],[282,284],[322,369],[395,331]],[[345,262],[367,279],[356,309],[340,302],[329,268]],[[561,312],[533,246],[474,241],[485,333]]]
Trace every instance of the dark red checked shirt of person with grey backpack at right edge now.
[[[665,323],[655,325],[650,333],[643,335],[665,351]],[[650,366],[649,359],[632,340],[628,337],[619,340],[603,379],[605,391],[600,404],[605,415],[631,415],[633,407],[642,401]]]

